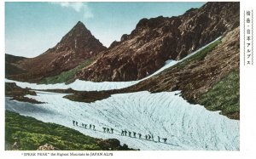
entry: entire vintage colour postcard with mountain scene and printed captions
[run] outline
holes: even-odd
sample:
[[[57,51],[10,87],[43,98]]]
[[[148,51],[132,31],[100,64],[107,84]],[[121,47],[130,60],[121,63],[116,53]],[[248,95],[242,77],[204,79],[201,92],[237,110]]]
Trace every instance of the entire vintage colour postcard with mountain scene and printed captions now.
[[[4,2],[4,9],[5,153],[241,151],[241,65],[253,67],[253,9],[241,2]]]

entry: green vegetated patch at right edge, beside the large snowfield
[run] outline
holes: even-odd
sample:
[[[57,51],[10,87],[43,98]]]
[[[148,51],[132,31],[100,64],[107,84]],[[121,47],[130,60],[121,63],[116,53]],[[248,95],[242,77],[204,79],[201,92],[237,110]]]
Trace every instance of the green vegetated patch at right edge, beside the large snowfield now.
[[[219,111],[224,116],[239,119],[239,71],[230,74],[212,85],[207,93],[201,94],[199,104],[205,105],[207,110]]]

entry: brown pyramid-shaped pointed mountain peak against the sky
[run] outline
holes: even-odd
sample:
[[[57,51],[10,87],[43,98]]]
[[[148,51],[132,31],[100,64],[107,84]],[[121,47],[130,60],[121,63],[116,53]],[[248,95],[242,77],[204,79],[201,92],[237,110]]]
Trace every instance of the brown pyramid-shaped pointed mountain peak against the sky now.
[[[79,21],[54,48],[49,48],[38,57],[18,61],[16,65],[25,69],[27,73],[11,78],[20,81],[37,81],[42,77],[54,76],[61,71],[74,68],[104,49],[106,48],[102,43]]]

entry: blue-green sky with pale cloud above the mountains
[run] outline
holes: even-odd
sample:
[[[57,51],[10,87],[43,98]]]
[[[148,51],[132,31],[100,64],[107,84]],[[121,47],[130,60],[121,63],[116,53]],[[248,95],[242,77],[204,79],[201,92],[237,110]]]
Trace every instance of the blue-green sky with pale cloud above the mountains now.
[[[35,57],[78,21],[108,47],[143,18],[172,17],[205,3],[5,3],[5,53]]]

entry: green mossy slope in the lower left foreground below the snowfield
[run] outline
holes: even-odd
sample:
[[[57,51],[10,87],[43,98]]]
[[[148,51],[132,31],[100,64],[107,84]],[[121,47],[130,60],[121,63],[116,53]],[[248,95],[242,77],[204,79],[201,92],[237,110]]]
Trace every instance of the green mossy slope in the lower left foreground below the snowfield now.
[[[40,145],[53,145],[55,150],[131,150],[117,139],[96,139],[72,128],[46,123],[29,116],[5,111],[5,149],[37,150]]]

